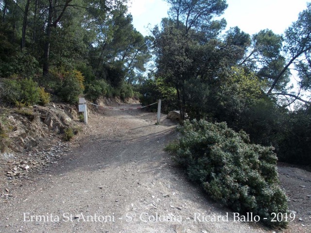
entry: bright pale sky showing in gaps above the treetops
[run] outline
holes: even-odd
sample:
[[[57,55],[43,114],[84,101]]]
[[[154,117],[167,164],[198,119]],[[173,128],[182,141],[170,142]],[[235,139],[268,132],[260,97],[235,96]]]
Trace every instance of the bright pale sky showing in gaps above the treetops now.
[[[153,28],[160,24],[163,17],[167,17],[169,6],[164,0],[130,1],[129,12],[133,16],[133,25],[143,35],[150,34],[148,25]],[[263,29],[271,29],[274,33],[281,34],[297,20],[299,12],[307,8],[307,2],[308,0],[227,0],[228,8],[223,17],[227,21],[227,29],[238,26],[251,35]]]

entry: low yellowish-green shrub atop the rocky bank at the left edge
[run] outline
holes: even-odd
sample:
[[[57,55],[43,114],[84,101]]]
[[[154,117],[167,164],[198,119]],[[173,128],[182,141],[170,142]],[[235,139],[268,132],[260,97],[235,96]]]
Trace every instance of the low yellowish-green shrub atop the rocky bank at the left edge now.
[[[30,106],[40,100],[40,88],[32,79],[4,79],[0,88],[1,98],[7,104]]]

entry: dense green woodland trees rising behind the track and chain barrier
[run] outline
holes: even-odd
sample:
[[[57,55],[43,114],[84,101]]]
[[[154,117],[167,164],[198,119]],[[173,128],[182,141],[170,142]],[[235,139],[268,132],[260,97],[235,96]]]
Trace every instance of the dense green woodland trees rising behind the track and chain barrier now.
[[[225,0],[166,1],[168,17],[143,36],[127,0],[0,0],[1,101],[23,100],[21,80],[71,102],[162,98],[182,119],[226,121],[280,158],[294,158],[289,140],[310,145],[311,3],[283,34],[249,35],[225,31]]]

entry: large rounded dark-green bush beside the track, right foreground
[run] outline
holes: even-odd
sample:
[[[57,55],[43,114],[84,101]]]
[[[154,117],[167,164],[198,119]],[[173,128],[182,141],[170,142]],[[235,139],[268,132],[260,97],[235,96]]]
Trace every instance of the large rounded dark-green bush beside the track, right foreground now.
[[[273,227],[272,213],[287,212],[287,199],[278,186],[276,154],[272,147],[250,144],[246,133],[236,133],[225,123],[185,121],[183,136],[168,150],[187,170],[190,180],[223,205],[240,213],[259,215]]]

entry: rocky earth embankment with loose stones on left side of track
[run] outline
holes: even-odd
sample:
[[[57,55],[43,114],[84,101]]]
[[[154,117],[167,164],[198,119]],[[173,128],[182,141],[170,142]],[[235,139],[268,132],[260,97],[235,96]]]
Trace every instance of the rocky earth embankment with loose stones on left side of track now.
[[[0,108],[1,182],[27,179],[28,172],[57,163],[69,152],[63,140],[69,128],[78,131],[81,126],[76,109],[68,104]],[[10,190],[5,191],[0,195],[10,197]]]

